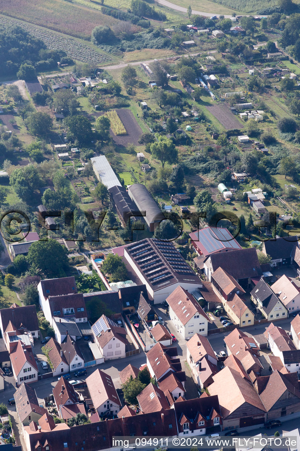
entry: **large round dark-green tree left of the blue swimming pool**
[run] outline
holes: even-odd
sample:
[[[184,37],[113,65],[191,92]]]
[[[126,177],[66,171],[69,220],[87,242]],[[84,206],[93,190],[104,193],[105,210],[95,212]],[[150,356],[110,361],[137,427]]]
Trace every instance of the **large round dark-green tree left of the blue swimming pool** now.
[[[60,277],[69,266],[67,253],[67,249],[55,239],[36,241],[28,250],[27,261],[38,272],[43,272],[47,276]]]

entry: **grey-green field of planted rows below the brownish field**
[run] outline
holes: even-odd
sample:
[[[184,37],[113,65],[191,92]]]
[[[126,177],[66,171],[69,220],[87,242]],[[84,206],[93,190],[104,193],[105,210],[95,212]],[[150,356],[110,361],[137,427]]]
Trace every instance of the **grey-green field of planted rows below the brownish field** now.
[[[93,48],[82,44],[81,42],[75,41],[72,38],[63,37],[48,30],[42,30],[34,25],[27,25],[26,23],[17,22],[13,19],[0,17],[0,23],[19,25],[33,36],[45,42],[46,46],[50,50],[63,50],[67,53],[67,56],[73,60],[78,60],[89,64],[98,64],[110,61],[106,55],[100,55]]]

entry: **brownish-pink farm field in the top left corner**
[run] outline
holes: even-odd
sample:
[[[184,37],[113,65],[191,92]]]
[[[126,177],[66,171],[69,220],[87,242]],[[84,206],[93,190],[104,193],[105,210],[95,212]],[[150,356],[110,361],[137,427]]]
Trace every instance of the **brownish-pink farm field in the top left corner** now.
[[[14,18],[42,25],[71,36],[90,38],[97,25],[113,26],[118,20],[86,6],[63,0],[7,0],[1,2],[0,12]]]

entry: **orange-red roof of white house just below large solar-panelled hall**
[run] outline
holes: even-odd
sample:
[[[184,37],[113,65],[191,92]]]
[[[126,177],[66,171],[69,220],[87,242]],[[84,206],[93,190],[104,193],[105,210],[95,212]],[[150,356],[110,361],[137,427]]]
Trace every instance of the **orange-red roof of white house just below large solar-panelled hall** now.
[[[173,312],[183,325],[197,313],[210,322],[210,319],[194,296],[187,290],[184,290],[180,285],[167,297],[166,302],[170,305],[170,308],[172,308]]]

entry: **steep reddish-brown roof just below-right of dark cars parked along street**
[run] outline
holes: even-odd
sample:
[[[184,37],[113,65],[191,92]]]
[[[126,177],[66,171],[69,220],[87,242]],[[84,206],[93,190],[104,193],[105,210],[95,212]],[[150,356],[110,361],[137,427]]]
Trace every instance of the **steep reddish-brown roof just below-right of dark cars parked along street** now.
[[[121,401],[113,385],[112,378],[103,371],[96,369],[85,379],[93,400],[94,408],[98,409],[107,400],[121,406]]]

